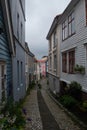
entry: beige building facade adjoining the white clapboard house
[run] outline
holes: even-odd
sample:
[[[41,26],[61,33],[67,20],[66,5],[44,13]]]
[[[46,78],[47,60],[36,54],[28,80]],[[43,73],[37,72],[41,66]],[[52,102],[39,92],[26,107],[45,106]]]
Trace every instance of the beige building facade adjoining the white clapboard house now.
[[[60,78],[60,29],[58,26],[60,15],[56,16],[47,34],[49,41],[48,52],[48,78],[49,86],[53,93],[59,93],[59,78]]]

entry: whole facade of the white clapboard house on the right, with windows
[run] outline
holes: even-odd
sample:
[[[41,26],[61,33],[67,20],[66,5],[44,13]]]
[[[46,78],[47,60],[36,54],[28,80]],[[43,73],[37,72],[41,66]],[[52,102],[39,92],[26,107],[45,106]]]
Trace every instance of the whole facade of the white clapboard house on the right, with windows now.
[[[61,86],[77,81],[87,94],[87,0],[72,0],[61,21]],[[79,70],[77,73],[75,68]],[[81,71],[80,71],[81,70]]]

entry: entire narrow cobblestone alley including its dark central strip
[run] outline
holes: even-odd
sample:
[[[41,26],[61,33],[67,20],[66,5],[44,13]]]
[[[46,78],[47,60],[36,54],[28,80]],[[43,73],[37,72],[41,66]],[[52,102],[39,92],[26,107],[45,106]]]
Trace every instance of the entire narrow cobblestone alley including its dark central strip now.
[[[46,80],[40,83],[42,89],[33,89],[24,104],[27,111],[25,130],[82,130],[49,97]]]

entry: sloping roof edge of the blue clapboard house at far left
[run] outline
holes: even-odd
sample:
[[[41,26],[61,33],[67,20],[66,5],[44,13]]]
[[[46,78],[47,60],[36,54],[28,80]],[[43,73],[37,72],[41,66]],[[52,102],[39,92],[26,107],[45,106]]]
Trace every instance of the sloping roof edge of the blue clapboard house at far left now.
[[[13,27],[10,15],[9,0],[1,0],[3,16],[6,26],[7,38],[9,43],[10,52],[15,55],[14,39],[13,39]]]

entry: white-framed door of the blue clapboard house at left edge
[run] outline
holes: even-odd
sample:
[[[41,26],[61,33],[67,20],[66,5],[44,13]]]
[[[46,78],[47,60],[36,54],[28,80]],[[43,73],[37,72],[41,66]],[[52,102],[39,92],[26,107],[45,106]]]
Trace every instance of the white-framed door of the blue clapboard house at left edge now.
[[[0,102],[6,98],[6,65],[0,63]]]

